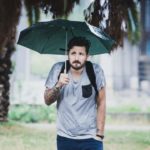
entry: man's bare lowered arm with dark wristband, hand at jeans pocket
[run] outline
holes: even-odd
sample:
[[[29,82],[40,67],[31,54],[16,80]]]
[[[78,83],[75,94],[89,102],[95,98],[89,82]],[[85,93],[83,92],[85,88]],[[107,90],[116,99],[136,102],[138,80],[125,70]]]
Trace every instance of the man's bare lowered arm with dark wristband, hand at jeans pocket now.
[[[105,128],[105,116],[106,116],[106,91],[103,87],[97,97],[97,135],[104,136]]]

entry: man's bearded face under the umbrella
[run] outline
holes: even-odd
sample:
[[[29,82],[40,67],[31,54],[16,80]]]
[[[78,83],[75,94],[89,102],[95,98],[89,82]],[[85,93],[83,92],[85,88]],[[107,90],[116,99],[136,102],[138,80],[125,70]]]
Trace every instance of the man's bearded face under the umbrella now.
[[[73,69],[81,69],[88,59],[86,48],[84,46],[73,46],[69,51],[68,59]]]

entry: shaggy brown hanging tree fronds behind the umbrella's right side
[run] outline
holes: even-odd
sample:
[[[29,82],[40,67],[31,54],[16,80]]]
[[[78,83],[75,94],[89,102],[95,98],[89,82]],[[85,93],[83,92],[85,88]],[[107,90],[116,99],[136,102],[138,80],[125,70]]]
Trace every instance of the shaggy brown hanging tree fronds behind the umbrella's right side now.
[[[116,41],[115,47],[123,46],[125,36],[128,36],[129,41],[135,44],[140,39],[139,2],[135,0],[95,0],[84,11],[85,20],[103,28]]]

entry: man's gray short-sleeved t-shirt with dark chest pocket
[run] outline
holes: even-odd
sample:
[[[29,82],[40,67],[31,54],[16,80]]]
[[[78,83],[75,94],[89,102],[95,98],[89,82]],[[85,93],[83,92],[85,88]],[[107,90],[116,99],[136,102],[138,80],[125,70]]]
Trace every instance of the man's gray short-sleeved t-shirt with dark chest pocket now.
[[[63,62],[56,63],[49,72],[45,86],[52,88],[58,81]],[[97,89],[105,86],[102,68],[93,63]],[[96,99],[95,90],[84,68],[78,81],[74,81],[68,72],[69,84],[60,91],[57,100],[57,134],[73,139],[91,138],[96,134]]]

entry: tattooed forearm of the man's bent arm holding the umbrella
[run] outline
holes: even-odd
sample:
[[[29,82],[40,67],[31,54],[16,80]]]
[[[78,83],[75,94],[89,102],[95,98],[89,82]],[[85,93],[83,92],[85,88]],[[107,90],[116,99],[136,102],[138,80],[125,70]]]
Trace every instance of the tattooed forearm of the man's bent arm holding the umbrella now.
[[[60,88],[54,86],[52,89],[46,89],[44,93],[45,103],[50,105],[54,103],[60,96]]]

